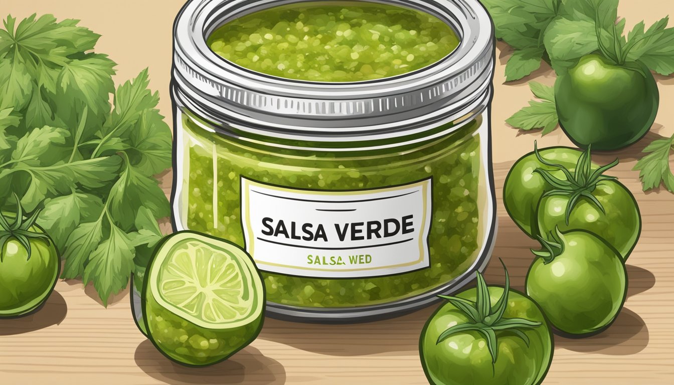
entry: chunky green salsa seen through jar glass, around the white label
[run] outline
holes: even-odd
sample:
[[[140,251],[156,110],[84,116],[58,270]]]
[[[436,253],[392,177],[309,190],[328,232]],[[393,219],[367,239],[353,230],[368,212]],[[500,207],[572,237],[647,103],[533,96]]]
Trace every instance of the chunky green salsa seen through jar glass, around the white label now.
[[[487,237],[480,223],[489,194],[479,187],[486,183],[478,131],[482,121],[478,116],[451,134],[408,147],[317,152],[250,144],[207,131],[199,127],[206,123],[183,113],[177,144],[185,154],[178,181],[181,225],[243,247],[242,177],[326,191],[404,185],[432,177],[429,267],[369,278],[262,273],[268,301],[299,307],[357,307],[427,293],[466,272]]]

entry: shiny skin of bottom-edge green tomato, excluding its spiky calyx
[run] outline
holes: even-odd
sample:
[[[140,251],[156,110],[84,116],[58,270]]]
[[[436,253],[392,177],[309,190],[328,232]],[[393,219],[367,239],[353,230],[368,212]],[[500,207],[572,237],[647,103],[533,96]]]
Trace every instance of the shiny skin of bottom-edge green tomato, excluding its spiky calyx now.
[[[489,287],[492,306],[501,295],[502,287]],[[476,301],[476,289],[468,289],[456,297]],[[541,325],[522,330],[528,345],[512,330],[495,331],[497,359],[493,362],[488,343],[479,332],[452,334],[437,343],[448,328],[470,323],[466,314],[452,303],[439,307],[426,322],[419,341],[421,364],[429,382],[433,385],[541,384],[553,356],[552,332],[541,308],[523,293],[511,289],[503,316],[537,321]]]

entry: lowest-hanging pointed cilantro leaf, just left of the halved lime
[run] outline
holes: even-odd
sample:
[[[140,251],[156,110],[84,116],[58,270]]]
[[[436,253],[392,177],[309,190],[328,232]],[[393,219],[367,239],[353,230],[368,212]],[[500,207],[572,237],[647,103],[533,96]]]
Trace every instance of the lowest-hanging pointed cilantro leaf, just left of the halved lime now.
[[[134,254],[129,236],[111,223],[110,236],[94,249],[82,274],[85,285],[94,283],[104,306],[112,293],[127,287],[133,272]]]

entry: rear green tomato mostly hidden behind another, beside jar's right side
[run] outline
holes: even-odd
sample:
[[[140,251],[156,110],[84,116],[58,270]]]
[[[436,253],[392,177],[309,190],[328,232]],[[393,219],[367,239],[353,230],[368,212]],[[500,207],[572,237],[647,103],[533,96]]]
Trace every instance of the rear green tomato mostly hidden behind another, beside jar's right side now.
[[[539,150],[539,154],[549,162],[573,170],[582,152],[568,147],[550,147]],[[532,151],[515,162],[503,185],[505,210],[516,225],[532,238],[538,234],[536,209],[539,200],[553,188],[539,173],[534,172],[536,169],[546,169],[555,177],[564,178],[561,171],[541,163]]]

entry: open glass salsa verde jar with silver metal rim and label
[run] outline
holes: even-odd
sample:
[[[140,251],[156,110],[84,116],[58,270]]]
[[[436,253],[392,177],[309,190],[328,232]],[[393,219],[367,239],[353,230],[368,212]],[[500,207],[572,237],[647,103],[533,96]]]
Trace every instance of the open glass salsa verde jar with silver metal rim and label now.
[[[494,36],[477,0],[195,0],[175,23],[175,229],[245,247],[268,312],[409,312],[487,264]]]

